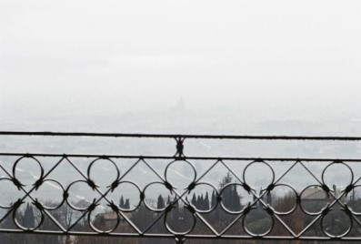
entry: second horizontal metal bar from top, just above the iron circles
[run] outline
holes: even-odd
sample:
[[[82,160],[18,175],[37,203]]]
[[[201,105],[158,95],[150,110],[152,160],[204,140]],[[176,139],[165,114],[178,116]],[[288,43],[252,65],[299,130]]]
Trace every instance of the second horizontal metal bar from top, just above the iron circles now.
[[[66,157],[66,158],[144,158],[144,159],[177,159],[177,160],[240,160],[240,161],[306,161],[306,162],[361,162],[361,159],[354,158],[236,158],[236,157],[176,157],[176,156],[137,156],[137,155],[95,155],[95,154],[43,154],[43,153],[4,153],[0,156],[15,157]]]

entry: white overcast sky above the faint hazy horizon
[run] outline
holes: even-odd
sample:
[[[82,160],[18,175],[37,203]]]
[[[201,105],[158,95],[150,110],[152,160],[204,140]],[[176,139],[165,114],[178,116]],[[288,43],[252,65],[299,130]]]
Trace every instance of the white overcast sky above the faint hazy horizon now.
[[[360,44],[361,1],[0,0],[1,116],[180,97],[361,110]]]

